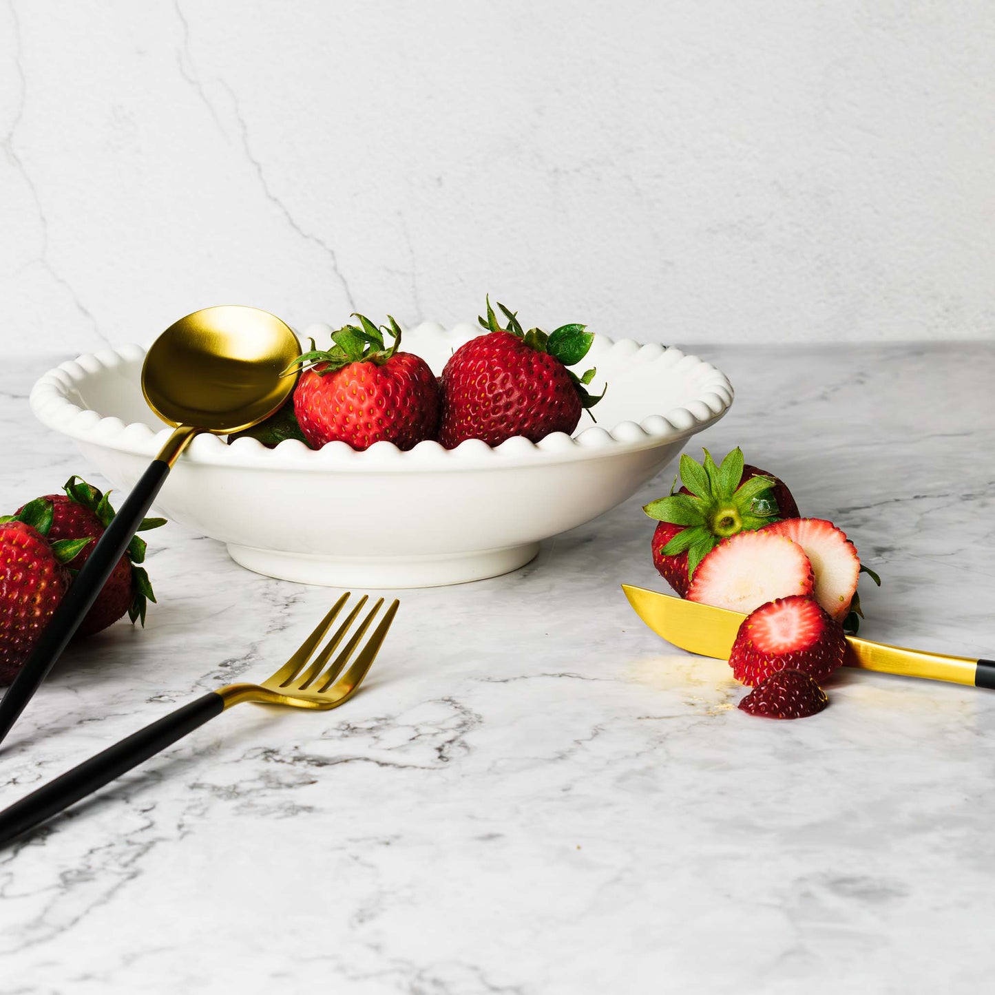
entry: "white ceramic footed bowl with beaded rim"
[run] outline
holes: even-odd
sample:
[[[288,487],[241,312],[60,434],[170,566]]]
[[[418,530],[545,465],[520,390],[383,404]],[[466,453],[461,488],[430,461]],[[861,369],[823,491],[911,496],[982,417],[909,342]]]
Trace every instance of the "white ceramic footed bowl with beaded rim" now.
[[[328,326],[305,334],[327,340]],[[439,372],[479,333],[426,322],[404,349]],[[31,408],[73,439],[116,488],[130,489],[169,430],[142,398],[145,350],[126,345],[80,356],[46,373]],[[423,587],[492,577],[527,563],[540,539],[573,528],[631,497],[688,439],[717,421],[732,388],[713,366],[674,347],[597,335],[585,368],[594,393],[573,437],[521,437],[491,449],[423,442],[403,453],[380,442],[364,453],[344,443],[309,450],[255,439],[228,446],[200,435],[155,502],[159,513],[228,546],[260,573],[309,584]]]

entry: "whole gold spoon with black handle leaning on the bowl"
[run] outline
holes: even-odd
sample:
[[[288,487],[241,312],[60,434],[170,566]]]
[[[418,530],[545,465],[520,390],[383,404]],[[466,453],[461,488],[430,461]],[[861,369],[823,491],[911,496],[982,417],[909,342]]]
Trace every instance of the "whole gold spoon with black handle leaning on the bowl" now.
[[[279,317],[239,305],[187,314],[152,343],[141,369],[142,393],[174,430],[100,536],[0,700],[0,741],[66,649],[193,437],[240,432],[269,418],[294,390],[297,377],[281,374],[299,354],[297,336]]]

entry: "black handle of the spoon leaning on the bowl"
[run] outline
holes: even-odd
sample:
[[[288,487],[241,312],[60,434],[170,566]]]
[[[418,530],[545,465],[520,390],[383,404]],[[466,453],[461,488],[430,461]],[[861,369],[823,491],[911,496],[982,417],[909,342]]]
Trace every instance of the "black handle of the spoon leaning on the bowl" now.
[[[0,700],[0,742],[17,721],[32,695],[38,691],[38,686],[49,676],[84,616],[97,600],[100,589],[117,561],[124,555],[127,544],[138,530],[141,519],[155,500],[168,473],[169,464],[165,460],[154,460],[100,536],[90,558],[77,574],[66,597],[60,602],[35,644],[31,656],[7,689],[3,700]]]

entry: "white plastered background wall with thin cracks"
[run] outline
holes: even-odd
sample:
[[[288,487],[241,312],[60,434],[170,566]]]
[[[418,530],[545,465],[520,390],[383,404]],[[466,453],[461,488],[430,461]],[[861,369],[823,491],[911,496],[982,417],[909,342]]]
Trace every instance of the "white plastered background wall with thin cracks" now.
[[[950,0],[2,0],[0,343],[488,292],[644,341],[990,340],[993,44]]]

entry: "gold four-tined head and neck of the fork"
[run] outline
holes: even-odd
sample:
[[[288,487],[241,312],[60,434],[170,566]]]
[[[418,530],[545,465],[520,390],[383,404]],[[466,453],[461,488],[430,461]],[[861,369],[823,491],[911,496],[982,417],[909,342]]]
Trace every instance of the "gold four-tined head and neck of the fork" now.
[[[366,631],[383,605],[383,598],[378,598],[376,604],[349,637],[341,652],[332,660],[332,654],[345,639],[353,622],[368,600],[366,595],[363,595],[356,606],[346,615],[345,620],[335,630],[321,652],[313,660],[310,660],[311,654],[327,635],[350,596],[348,592],[343,594],[331,606],[328,614],[321,619],[314,631],[300,644],[298,651],[291,659],[262,684],[236,684],[219,689],[216,694],[224,700],[225,708],[230,708],[242,701],[256,701],[260,704],[285,704],[294,708],[324,710],[344,704],[355,695],[369,673],[370,667],[373,666],[373,661],[376,659],[376,655],[387,636],[387,631],[394,621],[400,603],[394,600],[390,604],[373,634],[360,647]],[[358,655],[346,670],[346,664],[352,659],[357,649],[359,650]],[[310,661],[309,664],[308,661]]]

